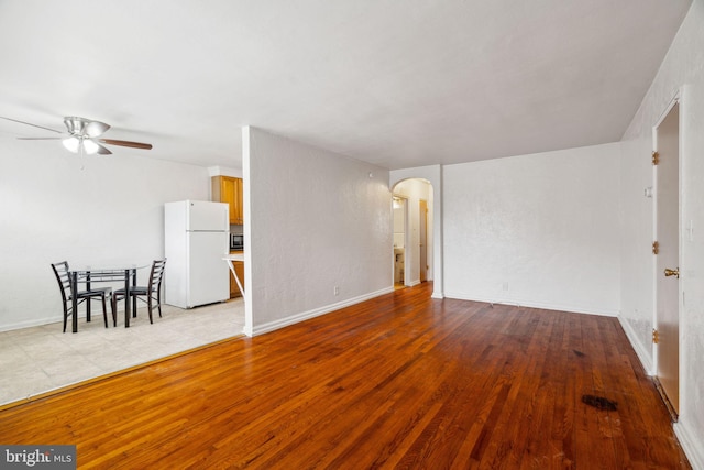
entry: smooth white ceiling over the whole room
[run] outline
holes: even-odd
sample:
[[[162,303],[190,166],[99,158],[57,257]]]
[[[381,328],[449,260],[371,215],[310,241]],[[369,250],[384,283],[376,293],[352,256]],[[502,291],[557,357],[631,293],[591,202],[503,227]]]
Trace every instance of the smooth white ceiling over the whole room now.
[[[691,1],[0,0],[0,116],[202,166],[248,124],[392,170],[614,142]]]

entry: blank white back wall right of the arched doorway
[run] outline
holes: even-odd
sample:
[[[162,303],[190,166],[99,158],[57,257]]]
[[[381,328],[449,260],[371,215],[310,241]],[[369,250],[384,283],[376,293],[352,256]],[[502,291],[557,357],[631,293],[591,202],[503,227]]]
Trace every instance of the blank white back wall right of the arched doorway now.
[[[443,166],[444,294],[616,315],[619,145]]]

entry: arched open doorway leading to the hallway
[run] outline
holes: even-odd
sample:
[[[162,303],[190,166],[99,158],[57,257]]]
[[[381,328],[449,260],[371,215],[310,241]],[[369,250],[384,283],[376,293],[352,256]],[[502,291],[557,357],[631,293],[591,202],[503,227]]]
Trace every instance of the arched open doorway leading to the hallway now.
[[[433,281],[433,188],[427,179],[409,178],[394,188],[394,281],[403,262],[403,285]],[[402,223],[403,221],[403,223]],[[403,227],[403,234],[400,228]],[[398,231],[397,231],[398,228]],[[399,247],[403,243],[403,251]]]

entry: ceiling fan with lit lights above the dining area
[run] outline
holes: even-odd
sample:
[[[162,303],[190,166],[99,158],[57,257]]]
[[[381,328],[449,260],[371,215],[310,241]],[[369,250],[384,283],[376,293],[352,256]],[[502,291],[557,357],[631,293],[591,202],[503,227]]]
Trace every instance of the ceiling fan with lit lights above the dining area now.
[[[151,150],[152,144],[150,143],[141,143],[141,142],[131,142],[131,141],[119,141],[114,139],[99,139],[110,125],[100,121],[92,121],[86,118],[77,118],[73,116],[68,116],[64,118],[64,124],[66,124],[67,132],[57,131],[55,129],[45,128],[44,125],[32,124],[30,122],[18,121],[16,119],[3,118],[0,116],[0,119],[6,119],[12,122],[19,122],[20,124],[32,125],[34,128],[44,129],[47,131],[55,132],[57,134],[63,134],[64,136],[55,136],[55,138],[18,138],[20,140],[61,140],[64,146],[74,153],[86,153],[88,155],[100,154],[100,155],[110,155],[110,152],[105,145],[120,145],[120,146],[129,146],[132,149],[143,149]]]

